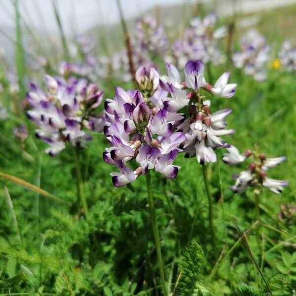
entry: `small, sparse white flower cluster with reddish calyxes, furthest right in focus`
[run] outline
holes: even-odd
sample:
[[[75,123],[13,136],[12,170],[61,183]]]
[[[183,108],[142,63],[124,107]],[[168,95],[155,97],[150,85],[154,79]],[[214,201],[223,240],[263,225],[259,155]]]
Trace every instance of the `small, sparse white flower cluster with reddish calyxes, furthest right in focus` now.
[[[260,186],[267,187],[270,191],[275,193],[281,193],[283,187],[288,183],[285,180],[274,180],[267,177],[267,170],[273,168],[283,162],[286,157],[266,158],[264,153],[259,153],[258,148],[255,150],[246,150],[243,154],[240,154],[238,149],[231,146],[227,148],[228,153],[223,156],[223,161],[229,165],[235,165],[243,162],[247,157],[253,156],[253,162],[251,162],[246,171],[240,172],[235,177],[235,185],[231,186],[233,192],[242,193],[247,190],[248,187],[255,187],[259,189]]]

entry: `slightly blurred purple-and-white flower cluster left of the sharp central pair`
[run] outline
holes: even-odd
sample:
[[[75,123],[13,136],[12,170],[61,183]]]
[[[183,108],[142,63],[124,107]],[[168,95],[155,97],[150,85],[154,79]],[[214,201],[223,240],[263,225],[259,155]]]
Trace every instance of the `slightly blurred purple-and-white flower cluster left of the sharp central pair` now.
[[[45,84],[46,91],[43,91],[31,83],[27,94],[27,102],[32,107],[27,115],[39,127],[36,136],[49,144],[45,151],[54,156],[65,148],[65,142],[84,147],[91,137],[83,128],[103,129],[105,115],[96,112],[103,92],[86,79],[74,77],[55,79],[46,75]]]

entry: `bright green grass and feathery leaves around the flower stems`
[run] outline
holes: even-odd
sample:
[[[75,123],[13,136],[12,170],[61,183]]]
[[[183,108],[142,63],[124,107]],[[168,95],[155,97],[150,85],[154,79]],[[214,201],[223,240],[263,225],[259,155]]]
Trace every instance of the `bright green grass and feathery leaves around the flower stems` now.
[[[281,24],[286,11],[263,14],[260,28],[268,33],[268,24]],[[276,31],[268,38],[278,42],[283,39],[280,35]],[[22,62],[18,66],[24,69]],[[224,70],[213,67],[214,80]],[[260,257],[255,197],[252,191],[238,195],[228,189],[232,174],[240,168],[223,164],[222,151],[218,152],[219,165],[208,167],[215,246],[211,245],[202,168],[196,159],[179,155],[175,163],[182,168],[175,180],[151,172],[170,291],[178,283],[175,296],[266,295],[248,245],[273,295],[290,296],[296,287],[296,217],[283,223],[278,213],[281,204],[295,205],[296,197],[295,75],[270,69],[267,81],[259,83],[238,70],[231,69],[231,73],[231,82],[238,83],[235,96],[211,98],[212,111],[233,110],[227,122],[236,134],[227,141],[241,151],[258,144],[268,157],[286,155],[287,161],[270,170],[270,177],[288,180],[289,187],[280,195],[267,189],[260,195]],[[113,96],[118,83],[104,81],[105,98]],[[30,130],[24,148],[13,137],[16,122]],[[0,121],[0,171],[39,186],[65,204],[0,179],[0,295],[156,295],[160,281],[144,176],[124,188],[113,187],[110,173],[116,168],[102,159],[108,144],[104,135],[93,134],[88,148],[80,151],[89,207],[83,218],[76,198],[72,147],[51,158],[43,153],[46,145],[34,137],[34,128],[23,117]],[[247,239],[241,236],[244,231]],[[189,237],[191,244],[186,249]],[[180,271],[183,276],[179,277]]]

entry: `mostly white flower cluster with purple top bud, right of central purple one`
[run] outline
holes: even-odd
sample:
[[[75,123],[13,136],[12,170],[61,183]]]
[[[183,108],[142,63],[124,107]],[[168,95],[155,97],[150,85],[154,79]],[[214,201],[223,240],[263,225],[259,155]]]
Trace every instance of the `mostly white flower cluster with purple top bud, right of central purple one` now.
[[[204,89],[212,94],[222,97],[232,97],[236,84],[228,84],[229,73],[224,73],[214,86],[207,83],[204,77],[204,64],[202,61],[189,61],[185,65],[185,89],[182,84],[178,70],[173,65],[167,65],[168,76],[161,77],[162,87],[168,89],[171,98],[164,102],[167,111],[179,111],[188,107],[189,116],[178,127],[185,135],[182,147],[185,157],[196,155],[201,164],[216,162],[216,148],[227,147],[221,136],[233,134],[234,130],[226,129],[225,117],[231,112],[229,109],[211,113],[210,101],[203,100],[200,94]],[[188,92],[188,90],[190,90]]]

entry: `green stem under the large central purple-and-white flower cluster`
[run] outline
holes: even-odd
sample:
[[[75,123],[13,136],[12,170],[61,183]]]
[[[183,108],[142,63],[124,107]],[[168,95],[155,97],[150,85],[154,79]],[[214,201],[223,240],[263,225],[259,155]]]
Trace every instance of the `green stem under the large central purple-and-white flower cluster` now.
[[[158,261],[158,268],[159,268],[159,273],[160,273],[160,280],[161,280],[161,284],[163,287],[164,295],[168,296],[168,291],[167,291],[167,286],[166,286],[166,281],[165,281],[164,265],[163,265],[163,260],[162,260],[162,256],[161,256],[161,249],[160,249],[159,231],[158,231],[158,227],[156,224],[156,213],[155,213],[155,207],[154,207],[154,202],[153,202],[151,179],[150,179],[150,172],[149,171],[146,174],[146,184],[147,184],[151,226],[152,226],[152,232],[153,232],[153,236],[154,236],[157,261]]]

